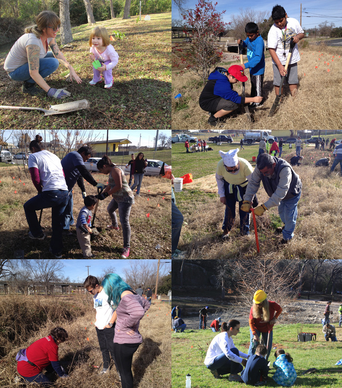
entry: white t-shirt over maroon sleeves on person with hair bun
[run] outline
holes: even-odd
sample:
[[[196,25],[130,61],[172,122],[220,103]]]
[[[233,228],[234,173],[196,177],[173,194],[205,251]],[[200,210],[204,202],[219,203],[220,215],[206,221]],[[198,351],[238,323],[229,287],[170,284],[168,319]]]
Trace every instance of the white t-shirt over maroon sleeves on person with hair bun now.
[[[35,152],[28,157],[28,168],[35,167],[43,186],[42,191],[67,190],[61,160],[49,151]]]

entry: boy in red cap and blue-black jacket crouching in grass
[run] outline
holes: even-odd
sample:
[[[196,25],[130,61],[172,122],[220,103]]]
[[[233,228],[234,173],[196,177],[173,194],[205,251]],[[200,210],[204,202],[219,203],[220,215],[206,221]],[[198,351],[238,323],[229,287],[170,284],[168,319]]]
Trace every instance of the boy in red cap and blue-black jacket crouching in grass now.
[[[243,68],[239,65],[233,65],[228,70],[216,67],[209,74],[208,82],[199,97],[199,106],[210,113],[208,119],[210,125],[215,126],[220,117],[235,111],[239,104],[261,102],[261,96],[240,97],[233,90],[233,84],[247,80]]]

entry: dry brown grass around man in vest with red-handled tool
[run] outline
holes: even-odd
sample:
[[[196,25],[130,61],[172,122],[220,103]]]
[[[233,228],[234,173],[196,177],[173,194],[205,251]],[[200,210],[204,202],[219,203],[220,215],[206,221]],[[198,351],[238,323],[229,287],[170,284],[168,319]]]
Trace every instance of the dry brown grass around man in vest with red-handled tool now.
[[[256,217],[260,253],[256,251],[253,220],[250,236],[240,236],[239,217],[229,241],[220,238],[224,206],[218,197],[205,197],[205,201],[177,201],[177,206],[188,225],[183,226],[178,248],[186,251],[188,258],[277,258],[277,259],[342,259],[340,249],[340,214],[342,211],[342,177],[337,166],[332,174],[330,167],[314,167],[327,151],[315,151],[314,146],[305,148],[304,161],[294,167],[302,181],[302,193],[298,204],[295,236],[287,245],[279,245],[282,236],[275,234],[278,209],[271,208],[262,217]],[[284,157],[290,160],[295,152]],[[312,159],[310,159],[312,158]],[[331,165],[331,164],[330,164]],[[198,180],[199,181],[199,180]],[[195,181],[196,182],[196,181]],[[206,184],[206,183],[205,183]],[[200,187],[197,185],[197,189]],[[262,185],[257,193],[259,204],[268,196]],[[277,226],[280,226],[279,224]]]

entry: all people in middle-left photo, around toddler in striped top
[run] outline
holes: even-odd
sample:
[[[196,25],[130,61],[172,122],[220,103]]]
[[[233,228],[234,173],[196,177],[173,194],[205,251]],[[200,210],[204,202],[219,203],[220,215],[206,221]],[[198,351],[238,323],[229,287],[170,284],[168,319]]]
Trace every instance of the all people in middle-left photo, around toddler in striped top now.
[[[133,154],[130,163],[130,178],[134,176],[134,184],[129,187],[124,171],[105,155],[97,162],[97,168],[102,174],[109,175],[108,184],[97,183],[91,173],[85,168],[85,161],[91,156],[91,149],[82,146],[77,151],[69,152],[62,160],[42,145],[43,138],[39,135],[29,144],[31,155],[28,158],[28,168],[31,179],[38,194],[28,200],[24,205],[26,220],[29,226],[28,236],[31,239],[43,240],[43,232],[36,214],[37,210],[51,208],[52,210],[52,236],[49,251],[55,258],[62,258],[63,235],[72,235],[70,226],[74,224],[73,217],[73,188],[77,183],[84,198],[84,207],[80,209],[76,233],[83,251],[84,258],[92,258],[90,235],[93,233],[91,225],[92,210],[99,201],[111,196],[107,206],[111,218],[108,229],[119,230],[116,210],[119,212],[120,224],[123,233],[123,248],[121,258],[128,258],[130,248],[131,229],[129,215],[134,205],[133,190],[139,196],[140,187],[144,177],[147,160],[139,152],[136,158]],[[98,195],[86,195],[84,179],[98,188]]]

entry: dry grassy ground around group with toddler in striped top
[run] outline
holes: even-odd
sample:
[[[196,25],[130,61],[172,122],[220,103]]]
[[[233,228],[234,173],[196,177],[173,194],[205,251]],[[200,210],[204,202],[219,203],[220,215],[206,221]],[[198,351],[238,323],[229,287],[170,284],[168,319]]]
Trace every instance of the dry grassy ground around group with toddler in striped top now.
[[[33,186],[29,173],[26,178],[23,167],[20,168],[21,182],[18,167],[0,167],[0,257],[13,258],[13,252],[22,249],[25,258],[52,258],[53,256],[47,253],[52,234],[51,209],[44,209],[42,216],[42,226],[45,228],[44,233],[47,238],[43,241],[36,241],[27,236],[28,225],[23,204],[37,195],[37,190]],[[107,182],[107,177],[102,174],[95,174],[94,178],[99,182]],[[95,188],[86,182],[85,189],[87,194],[96,194]],[[132,234],[129,258],[169,258],[171,254],[171,181],[159,177],[144,177],[140,194],[140,198],[135,198],[135,205],[132,206],[130,212]],[[76,225],[78,213],[84,206],[82,194],[77,185],[74,188],[73,198],[74,225]],[[157,206],[158,203],[160,207]],[[118,248],[123,246],[120,223],[118,231],[105,230],[106,226],[111,224],[107,213],[108,204],[109,199],[99,203],[95,220],[95,226],[103,228],[103,233],[92,241],[92,253],[99,259],[119,258]],[[146,216],[148,213],[150,213],[150,218]],[[63,240],[63,258],[83,258],[75,226],[71,230],[74,235],[64,237]],[[161,245],[158,251],[155,249],[157,244]]]

